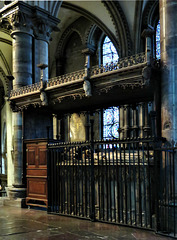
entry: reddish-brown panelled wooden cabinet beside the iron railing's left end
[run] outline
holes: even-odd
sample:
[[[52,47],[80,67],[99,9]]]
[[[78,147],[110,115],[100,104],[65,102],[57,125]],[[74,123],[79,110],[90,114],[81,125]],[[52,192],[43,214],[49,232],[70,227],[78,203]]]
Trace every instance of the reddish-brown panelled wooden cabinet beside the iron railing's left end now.
[[[47,207],[47,142],[29,140],[26,146],[26,204]]]

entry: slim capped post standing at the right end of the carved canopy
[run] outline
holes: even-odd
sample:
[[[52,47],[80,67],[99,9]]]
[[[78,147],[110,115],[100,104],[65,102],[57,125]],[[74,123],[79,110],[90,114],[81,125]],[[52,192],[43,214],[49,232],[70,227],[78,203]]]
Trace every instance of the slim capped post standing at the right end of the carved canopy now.
[[[144,29],[142,32],[142,37],[146,39],[146,45],[145,45],[145,55],[146,55],[146,62],[148,65],[150,65],[151,57],[153,55],[153,48],[152,48],[152,36],[154,34],[153,28],[148,27],[147,29]]]

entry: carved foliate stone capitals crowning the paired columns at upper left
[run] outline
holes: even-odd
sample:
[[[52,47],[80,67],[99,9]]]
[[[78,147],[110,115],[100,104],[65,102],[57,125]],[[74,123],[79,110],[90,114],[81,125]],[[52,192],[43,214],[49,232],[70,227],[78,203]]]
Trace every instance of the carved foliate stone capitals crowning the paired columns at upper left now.
[[[38,39],[48,41],[52,31],[58,31],[58,18],[36,6],[31,6],[23,1],[14,1],[0,10],[0,26],[10,29],[11,35],[23,32]]]

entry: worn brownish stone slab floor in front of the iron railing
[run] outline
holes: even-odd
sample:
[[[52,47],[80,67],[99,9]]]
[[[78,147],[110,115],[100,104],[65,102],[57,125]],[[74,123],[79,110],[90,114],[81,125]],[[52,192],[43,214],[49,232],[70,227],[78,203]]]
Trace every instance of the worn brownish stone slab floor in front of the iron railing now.
[[[0,240],[160,240],[154,232],[47,214],[46,211],[0,206]]]

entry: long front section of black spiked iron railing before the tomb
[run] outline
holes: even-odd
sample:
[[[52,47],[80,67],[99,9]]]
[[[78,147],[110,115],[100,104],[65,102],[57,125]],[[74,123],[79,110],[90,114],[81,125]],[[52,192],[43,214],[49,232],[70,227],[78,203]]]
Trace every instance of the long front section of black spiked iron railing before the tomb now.
[[[151,139],[48,145],[48,212],[150,228],[155,214]]]

